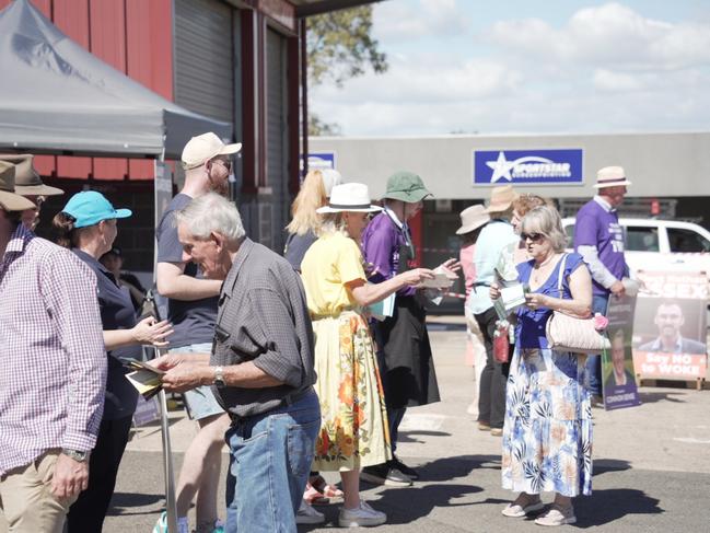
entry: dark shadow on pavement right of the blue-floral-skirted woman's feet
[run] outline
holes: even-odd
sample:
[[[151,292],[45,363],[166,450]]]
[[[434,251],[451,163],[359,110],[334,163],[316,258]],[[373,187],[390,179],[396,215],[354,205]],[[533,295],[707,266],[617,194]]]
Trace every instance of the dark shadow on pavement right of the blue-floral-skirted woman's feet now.
[[[619,520],[627,514],[660,514],[660,500],[643,490],[612,488],[594,490],[590,498],[574,501],[578,528],[593,528]]]

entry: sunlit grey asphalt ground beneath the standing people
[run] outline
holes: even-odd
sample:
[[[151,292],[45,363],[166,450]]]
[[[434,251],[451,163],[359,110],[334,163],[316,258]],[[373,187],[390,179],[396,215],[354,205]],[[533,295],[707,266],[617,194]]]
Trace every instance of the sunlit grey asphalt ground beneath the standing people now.
[[[362,484],[362,496],[388,515],[377,531],[540,531],[532,520],[500,513],[514,495],[500,486],[500,438],[479,431],[466,414],[474,382],[464,363],[463,327],[432,325],[430,332],[442,402],[410,409],[403,421],[398,455],[419,468],[421,480],[409,488]],[[561,531],[710,532],[710,392],[643,387],[641,399],[635,408],[594,409],[593,495],[577,499],[578,523]],[[176,468],[194,433],[193,421],[171,413]],[[225,470],[226,454],[223,460]],[[152,531],[164,505],[162,464],[158,427],[138,429],[105,532]],[[326,477],[337,480],[331,473]],[[220,498],[223,486],[224,476]],[[319,509],[326,523],[300,531],[338,528],[338,506]]]

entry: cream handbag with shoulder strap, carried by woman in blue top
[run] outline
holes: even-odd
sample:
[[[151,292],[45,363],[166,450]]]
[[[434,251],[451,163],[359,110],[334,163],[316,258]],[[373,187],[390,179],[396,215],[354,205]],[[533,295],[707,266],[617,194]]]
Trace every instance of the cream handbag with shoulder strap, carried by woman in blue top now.
[[[563,298],[562,279],[567,254],[560,263],[557,291]],[[594,317],[577,318],[560,311],[552,311],[545,328],[547,344],[556,351],[571,351],[574,354],[602,354],[612,347],[612,343],[603,333],[595,328]]]

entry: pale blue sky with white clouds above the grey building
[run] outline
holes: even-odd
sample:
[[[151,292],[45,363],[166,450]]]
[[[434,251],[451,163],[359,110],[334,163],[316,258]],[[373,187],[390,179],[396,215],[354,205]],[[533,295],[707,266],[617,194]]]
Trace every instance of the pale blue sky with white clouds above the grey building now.
[[[310,105],[346,136],[710,129],[710,1],[386,0],[389,70]]]

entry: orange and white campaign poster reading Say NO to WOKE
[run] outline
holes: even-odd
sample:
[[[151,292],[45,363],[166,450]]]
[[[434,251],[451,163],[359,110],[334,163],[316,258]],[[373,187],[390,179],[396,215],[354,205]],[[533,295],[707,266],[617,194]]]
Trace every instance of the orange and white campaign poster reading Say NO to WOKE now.
[[[706,376],[708,279],[703,273],[641,271],[633,361],[641,378]]]

